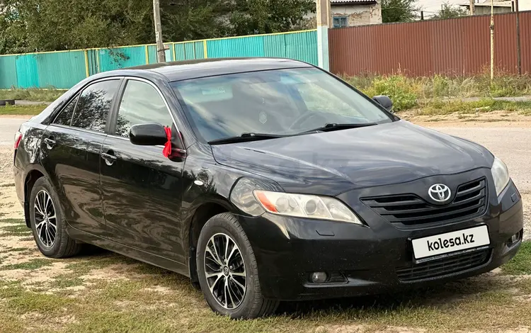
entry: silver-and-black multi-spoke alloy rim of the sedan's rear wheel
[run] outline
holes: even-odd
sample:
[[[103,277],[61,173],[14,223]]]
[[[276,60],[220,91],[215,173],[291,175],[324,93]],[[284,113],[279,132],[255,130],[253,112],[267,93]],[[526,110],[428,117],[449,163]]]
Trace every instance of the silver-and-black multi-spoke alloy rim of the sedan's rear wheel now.
[[[33,203],[35,212],[35,230],[44,247],[52,247],[57,235],[57,215],[50,193],[39,191]]]

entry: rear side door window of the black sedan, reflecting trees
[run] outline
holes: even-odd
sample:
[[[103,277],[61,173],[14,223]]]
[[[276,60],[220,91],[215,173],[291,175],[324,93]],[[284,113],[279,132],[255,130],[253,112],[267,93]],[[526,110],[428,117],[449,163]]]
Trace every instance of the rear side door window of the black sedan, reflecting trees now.
[[[110,104],[119,87],[119,79],[100,81],[86,87],[79,96],[72,126],[105,132]]]

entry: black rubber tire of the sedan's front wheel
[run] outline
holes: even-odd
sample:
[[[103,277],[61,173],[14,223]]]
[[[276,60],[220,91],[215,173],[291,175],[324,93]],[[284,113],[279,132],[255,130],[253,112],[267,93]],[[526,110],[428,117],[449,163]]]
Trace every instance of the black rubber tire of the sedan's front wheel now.
[[[235,250],[232,256],[227,255],[230,261],[228,264],[221,266],[218,273],[217,269],[220,265],[218,265],[215,260],[212,260],[214,254],[212,250],[210,250],[210,253],[207,252],[207,245],[212,249],[212,244],[217,240],[222,241],[222,239],[227,239],[225,236],[230,237],[227,241],[227,243],[229,243],[227,252],[232,252],[234,246],[231,247],[231,244],[233,243],[236,244],[237,251]],[[224,248],[223,243],[216,244],[221,244],[219,249],[222,247]],[[238,251],[240,255],[238,255]],[[224,261],[225,258],[223,253],[218,259],[219,261],[222,261],[222,263],[227,263],[227,261]],[[205,261],[207,261],[207,264],[210,266],[205,266]],[[243,261],[243,266],[241,261]],[[261,293],[260,283],[258,282],[258,265],[256,264],[253,249],[251,248],[249,239],[245,235],[238,220],[236,220],[231,213],[215,215],[207,221],[199,235],[196,262],[202,293],[205,295],[205,300],[207,300],[208,305],[210,305],[210,308],[214,312],[217,312],[220,315],[229,316],[232,319],[253,319],[270,315],[277,309],[279,302],[277,300],[266,300]],[[230,270],[229,266],[231,266]],[[215,269],[211,269],[212,267]],[[224,269],[224,267],[227,267],[227,269]],[[234,271],[232,270],[233,268]],[[246,275],[245,279],[241,276],[232,276],[233,273],[241,274],[242,269]],[[209,273],[218,274],[218,276],[219,274],[222,274],[220,277],[221,281],[219,281],[218,284],[215,284],[217,277],[211,277],[207,280],[207,270],[210,271]],[[228,285],[224,285],[224,279],[225,281],[229,281]],[[237,300],[237,298],[238,296],[241,296],[242,288],[238,288],[234,280],[236,280],[236,282],[239,281],[240,285],[245,282],[246,288],[241,300]],[[214,290],[218,291],[219,288],[217,287],[219,286],[227,286],[226,288],[231,288],[232,293],[229,297],[234,295],[234,298],[227,298],[227,300],[232,300],[232,302],[230,304],[229,301],[224,302],[223,294],[219,293],[218,296],[216,296],[210,291],[210,286],[214,286]],[[225,290],[227,289],[224,289],[224,291]],[[221,298],[221,301],[219,298]],[[227,304],[227,306],[224,306],[222,303]]]

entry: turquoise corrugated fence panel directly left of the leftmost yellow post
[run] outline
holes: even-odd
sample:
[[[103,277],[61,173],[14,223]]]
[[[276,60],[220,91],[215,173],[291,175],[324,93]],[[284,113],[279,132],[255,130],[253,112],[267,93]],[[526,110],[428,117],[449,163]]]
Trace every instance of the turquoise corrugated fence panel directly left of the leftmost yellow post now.
[[[41,88],[67,89],[86,77],[84,51],[38,53],[33,57],[37,61],[37,86]]]

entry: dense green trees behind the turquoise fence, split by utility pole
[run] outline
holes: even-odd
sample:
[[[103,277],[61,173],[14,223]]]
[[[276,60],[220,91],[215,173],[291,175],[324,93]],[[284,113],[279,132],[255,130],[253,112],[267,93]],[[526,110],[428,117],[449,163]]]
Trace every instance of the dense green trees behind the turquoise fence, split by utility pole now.
[[[313,0],[161,0],[164,40],[304,26]],[[0,0],[0,54],[154,43],[152,1]]]

